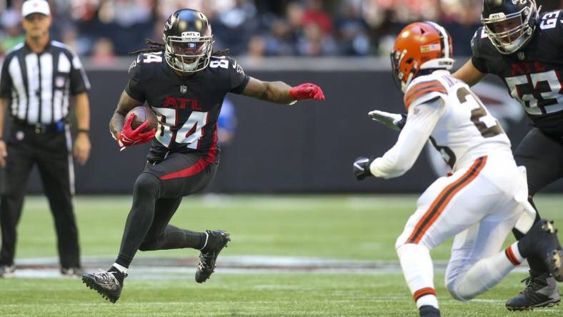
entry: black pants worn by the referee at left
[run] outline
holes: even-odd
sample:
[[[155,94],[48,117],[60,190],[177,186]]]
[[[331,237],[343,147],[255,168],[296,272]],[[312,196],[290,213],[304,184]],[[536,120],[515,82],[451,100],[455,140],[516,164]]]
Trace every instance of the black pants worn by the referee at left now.
[[[67,126],[39,131],[12,124],[6,145],[5,191],[0,201],[0,265],[14,264],[16,227],[24,203],[26,183],[35,164],[54,217],[61,267],[80,266],[78,230],[74,218],[74,168]],[[34,233],[41,237],[44,233]]]

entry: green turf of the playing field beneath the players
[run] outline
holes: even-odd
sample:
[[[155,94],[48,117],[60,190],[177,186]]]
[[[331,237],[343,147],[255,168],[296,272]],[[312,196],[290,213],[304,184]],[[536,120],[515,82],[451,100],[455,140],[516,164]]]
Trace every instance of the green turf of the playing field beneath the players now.
[[[192,230],[222,228],[232,242],[221,256],[295,256],[397,263],[394,240],[416,196],[234,196],[185,198],[171,223]],[[78,197],[81,248],[86,258],[114,258],[129,211],[129,197]],[[539,196],[545,218],[563,226],[563,196]],[[55,236],[44,198],[29,198],[19,226],[18,260],[54,258]],[[433,256],[447,260],[448,245]],[[196,251],[138,253],[143,258],[194,257]],[[415,316],[398,271],[221,273],[194,282],[192,273],[126,279],[112,305],[77,279],[0,280],[0,316]],[[40,260],[38,260],[40,261]],[[392,261],[392,262],[389,262]],[[105,263],[111,264],[111,260]],[[102,264],[104,265],[104,264]],[[133,263],[133,266],[135,263]],[[102,268],[106,268],[105,266]],[[134,268],[131,269],[131,272]],[[452,300],[435,278],[444,316],[563,316],[563,309],[510,313],[504,300],[521,290],[523,273],[471,303]]]

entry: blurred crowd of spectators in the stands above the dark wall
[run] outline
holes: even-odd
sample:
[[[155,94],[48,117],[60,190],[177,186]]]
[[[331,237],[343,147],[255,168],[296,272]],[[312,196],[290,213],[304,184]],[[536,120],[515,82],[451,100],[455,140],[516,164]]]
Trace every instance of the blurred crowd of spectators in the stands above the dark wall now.
[[[23,41],[24,0],[0,0],[0,56]],[[547,9],[561,0],[538,0]],[[405,24],[438,21],[452,34],[454,54],[471,54],[482,0],[49,0],[52,38],[98,64],[111,64],[160,40],[164,21],[181,8],[203,11],[216,49],[240,56],[387,55]]]

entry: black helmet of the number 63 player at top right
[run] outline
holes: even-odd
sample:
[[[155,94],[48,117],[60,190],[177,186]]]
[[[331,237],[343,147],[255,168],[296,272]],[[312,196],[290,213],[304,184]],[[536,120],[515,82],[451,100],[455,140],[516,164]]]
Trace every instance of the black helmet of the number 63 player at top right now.
[[[501,54],[512,54],[532,39],[539,10],[535,0],[484,0],[481,23]]]

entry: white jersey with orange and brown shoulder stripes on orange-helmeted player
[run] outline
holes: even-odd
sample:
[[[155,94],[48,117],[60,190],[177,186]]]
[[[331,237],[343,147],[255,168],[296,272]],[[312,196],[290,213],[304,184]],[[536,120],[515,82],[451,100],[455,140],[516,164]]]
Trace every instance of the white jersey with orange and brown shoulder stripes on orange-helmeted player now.
[[[449,71],[417,77],[407,86],[404,104],[408,116],[417,116],[419,105],[436,102],[441,109],[429,140],[453,171],[492,151],[510,151],[510,141],[499,121],[469,86]]]

